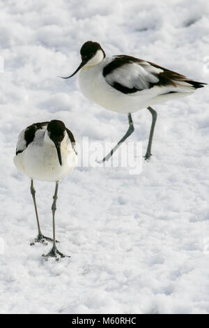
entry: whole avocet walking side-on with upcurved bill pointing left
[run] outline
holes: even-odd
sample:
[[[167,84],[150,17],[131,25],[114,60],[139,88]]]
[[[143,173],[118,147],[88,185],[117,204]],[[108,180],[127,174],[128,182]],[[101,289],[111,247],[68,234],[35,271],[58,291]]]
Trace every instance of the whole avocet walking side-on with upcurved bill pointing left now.
[[[119,145],[134,131],[132,112],[147,108],[152,114],[152,125],[145,159],[151,156],[151,146],[157,112],[152,105],[192,94],[206,83],[196,82],[184,75],[143,59],[124,54],[106,57],[97,42],[87,41],[80,50],[82,63],[68,79],[79,71],[79,87],[94,103],[123,114],[128,114],[129,128],[123,138],[102,161],[107,161]]]

